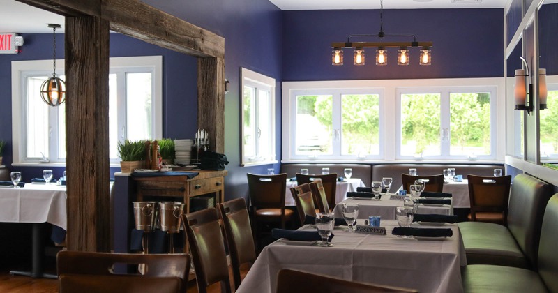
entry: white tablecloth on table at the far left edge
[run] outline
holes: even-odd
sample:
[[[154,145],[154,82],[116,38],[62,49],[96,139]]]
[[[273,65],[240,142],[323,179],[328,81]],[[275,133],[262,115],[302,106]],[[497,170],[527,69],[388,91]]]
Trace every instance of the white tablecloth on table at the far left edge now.
[[[51,223],[66,230],[66,186],[27,183],[0,188],[0,222]]]

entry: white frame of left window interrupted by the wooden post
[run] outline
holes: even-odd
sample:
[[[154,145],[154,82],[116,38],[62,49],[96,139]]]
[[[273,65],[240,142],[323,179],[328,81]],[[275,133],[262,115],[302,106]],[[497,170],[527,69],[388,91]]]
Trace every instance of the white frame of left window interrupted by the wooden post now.
[[[64,59],[57,59],[58,68],[57,75],[64,75],[63,68]],[[110,58],[110,68],[152,68],[153,73],[153,133],[156,138],[162,137],[163,134],[163,57],[112,57]],[[64,166],[65,160],[52,160],[50,163],[40,163],[38,158],[26,158],[25,142],[26,133],[26,113],[24,105],[24,95],[26,94],[24,79],[33,75],[52,75],[52,60],[29,60],[29,61],[12,61],[12,151],[13,166]],[[125,111],[126,108],[123,109]],[[54,109],[56,111],[56,109]],[[52,117],[50,118],[52,120]],[[52,124],[51,124],[52,125]],[[52,135],[58,136],[58,132],[52,128]],[[57,140],[52,144],[52,150],[57,149]],[[46,154],[45,154],[46,155]],[[110,161],[110,167],[119,167],[119,159]]]

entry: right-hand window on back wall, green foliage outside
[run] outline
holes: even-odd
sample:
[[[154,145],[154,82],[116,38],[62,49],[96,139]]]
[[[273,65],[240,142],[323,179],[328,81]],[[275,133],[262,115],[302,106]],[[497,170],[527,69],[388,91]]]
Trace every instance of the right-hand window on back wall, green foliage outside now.
[[[400,89],[398,158],[495,158],[495,88]]]

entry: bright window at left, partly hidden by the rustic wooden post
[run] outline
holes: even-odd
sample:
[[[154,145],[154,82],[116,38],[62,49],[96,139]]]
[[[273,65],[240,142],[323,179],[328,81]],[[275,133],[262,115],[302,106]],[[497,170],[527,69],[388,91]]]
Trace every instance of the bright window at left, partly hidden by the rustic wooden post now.
[[[63,68],[64,60],[57,60]],[[109,124],[110,160],[119,161],[118,140],[161,136],[162,57],[110,59]],[[61,71],[61,70],[59,70]],[[51,163],[66,160],[65,104],[50,107],[40,98],[40,85],[52,74],[52,61],[14,61],[13,158],[14,163],[38,163],[43,155]],[[63,73],[59,77],[65,80]],[[16,114],[19,113],[19,114]]]

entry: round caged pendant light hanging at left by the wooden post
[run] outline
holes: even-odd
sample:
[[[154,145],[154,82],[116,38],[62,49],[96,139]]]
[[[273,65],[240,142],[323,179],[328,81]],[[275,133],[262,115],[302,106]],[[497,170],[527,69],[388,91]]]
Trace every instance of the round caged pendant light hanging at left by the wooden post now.
[[[66,101],[66,83],[60,78],[56,77],[56,29],[60,28],[60,24],[48,24],[47,27],[52,28],[52,35],[54,39],[53,45],[53,71],[52,77],[45,80],[40,86],[40,97],[43,102],[52,107],[56,107]]]

